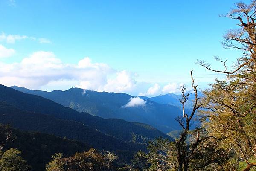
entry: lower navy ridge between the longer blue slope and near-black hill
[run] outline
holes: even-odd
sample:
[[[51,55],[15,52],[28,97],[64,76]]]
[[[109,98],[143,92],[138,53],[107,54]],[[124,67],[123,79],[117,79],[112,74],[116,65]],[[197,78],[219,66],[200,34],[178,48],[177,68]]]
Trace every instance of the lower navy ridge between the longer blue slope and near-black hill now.
[[[93,120],[91,120],[91,122],[93,122]],[[145,149],[145,145],[143,144],[122,141],[121,139],[88,127],[81,122],[56,119],[53,116],[41,113],[19,110],[3,101],[0,101],[0,123],[11,124],[13,127],[21,130],[38,131],[55,136],[67,137],[68,139],[79,140],[88,146],[101,150],[137,151]]]

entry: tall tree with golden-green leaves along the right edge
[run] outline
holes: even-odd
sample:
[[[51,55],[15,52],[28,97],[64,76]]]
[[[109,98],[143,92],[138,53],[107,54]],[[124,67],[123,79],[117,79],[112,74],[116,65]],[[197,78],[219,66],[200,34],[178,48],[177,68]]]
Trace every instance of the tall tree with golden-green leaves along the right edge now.
[[[224,64],[224,70],[214,70],[207,62],[198,60],[208,70],[227,74],[226,80],[217,79],[204,92],[204,108],[208,110],[201,114],[209,135],[220,140],[221,148],[236,153],[229,162],[230,169],[241,169],[239,164],[246,163],[243,171],[249,171],[256,166],[256,1],[236,3],[222,16],[237,20],[239,26],[224,35],[224,48],[240,50],[242,55],[232,71],[227,69],[227,60],[219,57],[215,59]]]

